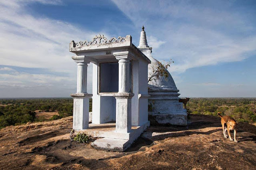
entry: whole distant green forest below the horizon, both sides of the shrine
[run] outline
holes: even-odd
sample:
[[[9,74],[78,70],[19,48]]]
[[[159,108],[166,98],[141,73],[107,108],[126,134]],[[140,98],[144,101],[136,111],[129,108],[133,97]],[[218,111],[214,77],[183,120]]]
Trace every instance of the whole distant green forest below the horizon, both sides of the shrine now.
[[[72,116],[73,99],[0,99],[0,128],[45,121],[36,118],[35,111],[38,110],[58,112],[58,115],[52,116],[49,120]],[[89,111],[92,111],[92,99],[90,99]],[[191,98],[187,103],[187,112],[214,116],[217,116],[218,112],[223,112],[236,121],[256,122],[256,98]]]

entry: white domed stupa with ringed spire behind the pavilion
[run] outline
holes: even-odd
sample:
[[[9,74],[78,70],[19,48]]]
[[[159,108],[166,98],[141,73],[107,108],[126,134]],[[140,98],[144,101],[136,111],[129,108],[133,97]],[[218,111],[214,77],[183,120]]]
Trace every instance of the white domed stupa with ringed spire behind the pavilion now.
[[[152,47],[147,45],[147,37],[142,27],[138,49],[150,60],[148,65],[148,77],[159,66],[159,61],[152,57]],[[167,71],[167,70],[166,70]],[[187,110],[183,109],[183,103],[179,103],[179,90],[177,89],[169,71],[168,76],[160,76],[148,83],[149,121],[152,124],[187,125]]]

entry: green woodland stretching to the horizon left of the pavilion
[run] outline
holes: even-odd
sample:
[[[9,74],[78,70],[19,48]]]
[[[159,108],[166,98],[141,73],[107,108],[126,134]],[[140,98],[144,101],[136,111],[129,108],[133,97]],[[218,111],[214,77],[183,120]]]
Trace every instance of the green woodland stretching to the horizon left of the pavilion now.
[[[90,100],[91,111],[92,100]],[[27,122],[42,121],[36,118],[35,111],[58,111],[50,120],[73,115],[72,98],[44,99],[0,99],[0,128],[20,125]]]

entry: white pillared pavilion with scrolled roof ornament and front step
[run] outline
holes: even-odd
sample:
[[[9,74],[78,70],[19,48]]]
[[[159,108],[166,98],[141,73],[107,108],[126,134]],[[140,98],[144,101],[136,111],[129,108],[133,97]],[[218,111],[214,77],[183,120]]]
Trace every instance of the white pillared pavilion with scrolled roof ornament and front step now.
[[[151,61],[132,43],[131,36],[95,36],[74,42],[69,51],[77,63],[77,93],[73,129],[93,137],[95,148],[124,151],[149,126],[148,64]],[[93,94],[87,93],[87,64],[93,63]],[[89,98],[93,98],[89,124]]]

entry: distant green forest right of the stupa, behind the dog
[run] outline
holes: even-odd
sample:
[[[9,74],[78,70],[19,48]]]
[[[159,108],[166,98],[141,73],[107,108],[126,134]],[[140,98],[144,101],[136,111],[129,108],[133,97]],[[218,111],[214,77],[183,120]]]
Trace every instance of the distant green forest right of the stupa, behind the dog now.
[[[187,111],[214,116],[222,112],[236,121],[256,122],[256,98],[191,98]]]

